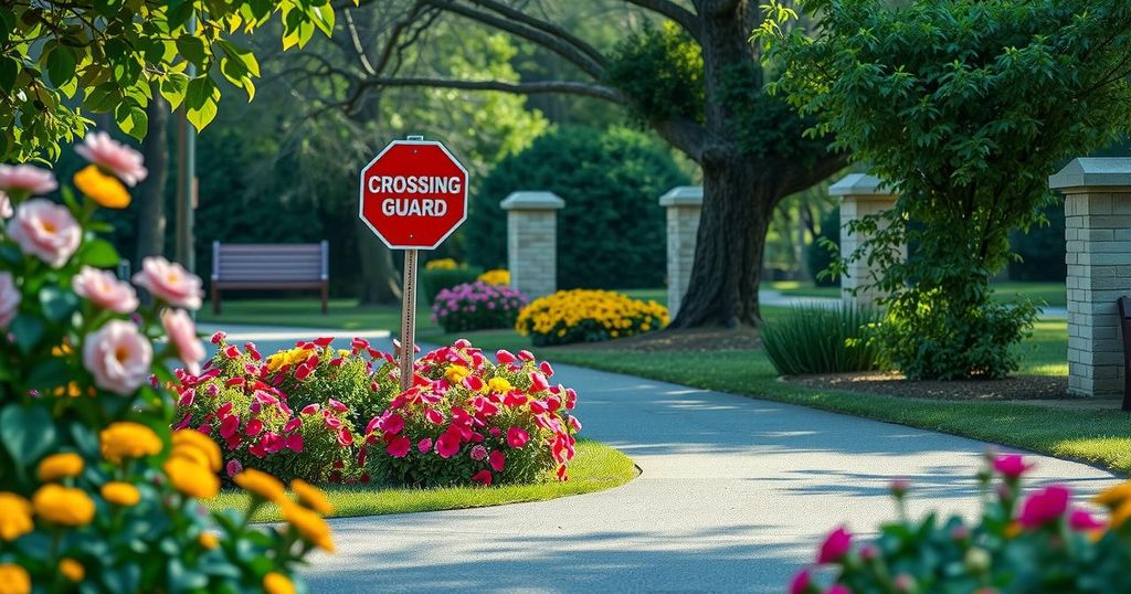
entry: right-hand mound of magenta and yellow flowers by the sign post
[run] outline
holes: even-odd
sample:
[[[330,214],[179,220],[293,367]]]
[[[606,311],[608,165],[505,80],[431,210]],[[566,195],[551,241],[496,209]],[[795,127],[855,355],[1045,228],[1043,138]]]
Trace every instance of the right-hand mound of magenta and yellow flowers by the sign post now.
[[[398,367],[377,370],[388,407],[365,428],[366,467],[374,477],[413,487],[536,483],[568,479],[577,393],[551,385],[553,368],[527,351],[492,362],[467,341],[415,364],[402,393]]]

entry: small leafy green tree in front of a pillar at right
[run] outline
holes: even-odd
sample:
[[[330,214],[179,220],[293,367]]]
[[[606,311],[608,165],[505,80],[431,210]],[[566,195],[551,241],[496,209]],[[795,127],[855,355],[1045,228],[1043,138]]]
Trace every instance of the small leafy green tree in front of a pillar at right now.
[[[1031,304],[988,301],[1009,234],[1051,199],[1047,175],[1131,129],[1131,3],[1124,0],[809,0],[814,37],[784,32],[771,2],[758,36],[772,85],[814,134],[890,180],[892,225],[865,249],[886,265],[883,333],[913,378],[1001,377]],[[869,217],[853,232],[875,232]],[[912,257],[896,258],[908,244]],[[861,253],[848,255],[858,258]]]

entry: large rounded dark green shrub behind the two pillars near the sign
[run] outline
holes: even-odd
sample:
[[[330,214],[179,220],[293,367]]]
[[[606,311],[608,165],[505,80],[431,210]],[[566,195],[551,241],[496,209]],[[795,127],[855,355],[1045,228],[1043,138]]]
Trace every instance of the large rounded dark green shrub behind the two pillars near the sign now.
[[[513,191],[545,190],[566,200],[558,221],[560,287],[662,286],[667,239],[658,199],[689,181],[641,132],[561,128],[500,162],[480,184],[461,230],[468,260],[504,267],[507,217],[499,203]]]

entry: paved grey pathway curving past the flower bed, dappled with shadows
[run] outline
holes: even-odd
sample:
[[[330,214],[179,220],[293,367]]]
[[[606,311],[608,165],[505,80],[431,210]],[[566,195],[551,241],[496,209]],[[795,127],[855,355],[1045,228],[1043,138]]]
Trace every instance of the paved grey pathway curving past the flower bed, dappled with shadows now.
[[[913,514],[977,509],[983,442],[556,369],[578,390],[581,436],[631,456],[639,477],[553,501],[331,520],[338,552],[307,570],[311,591],[780,593],[834,526],[864,532],[892,517],[892,479],[913,480]],[[1031,459],[1038,483],[1090,494],[1116,482]]]

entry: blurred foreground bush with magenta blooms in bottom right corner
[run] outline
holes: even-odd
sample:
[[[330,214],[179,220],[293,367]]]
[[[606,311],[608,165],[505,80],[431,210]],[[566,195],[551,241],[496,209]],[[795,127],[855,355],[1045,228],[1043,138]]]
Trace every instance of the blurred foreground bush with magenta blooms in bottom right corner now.
[[[821,586],[806,568],[791,594],[1131,592],[1131,482],[1095,498],[1110,510],[1102,517],[1073,505],[1063,485],[1022,497],[1030,466],[1017,455],[987,457],[976,523],[936,514],[912,519],[904,506],[910,484],[892,483],[898,519],[863,544],[843,526],[832,531],[815,561],[831,566],[834,583]]]

